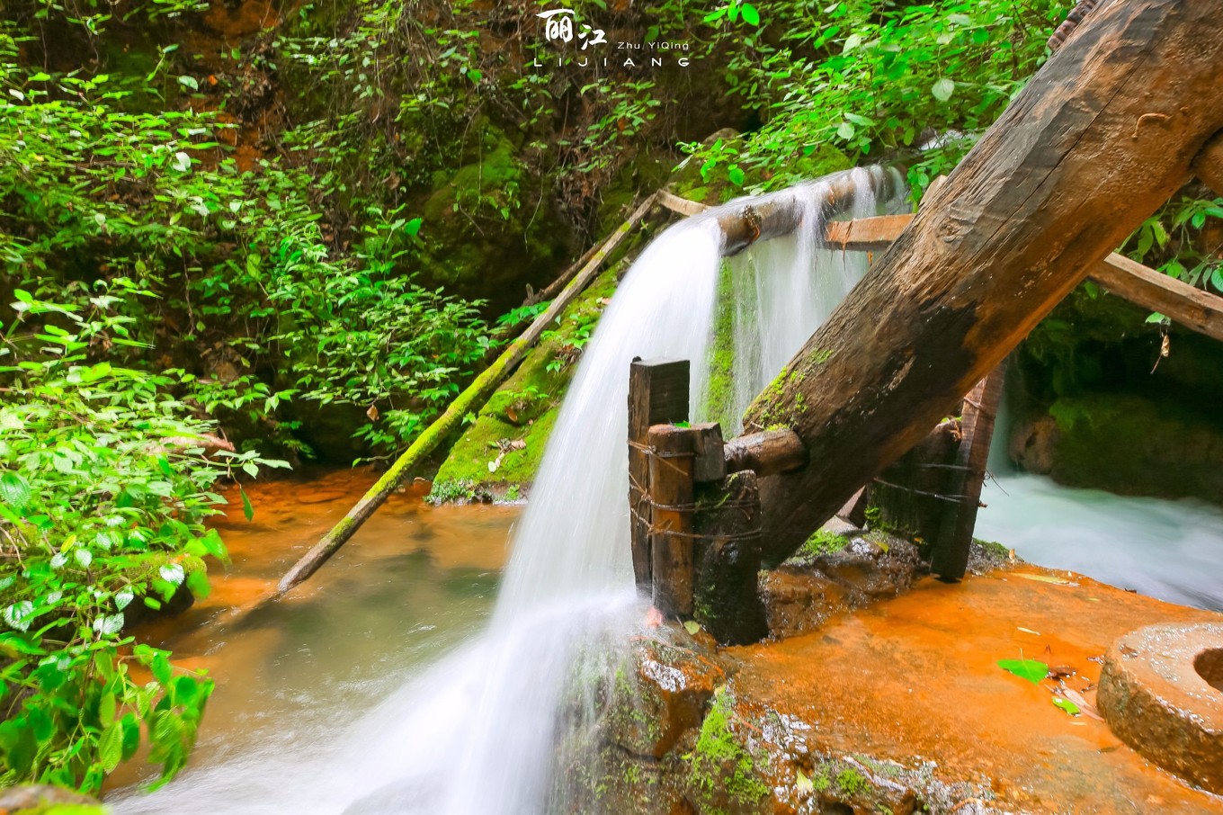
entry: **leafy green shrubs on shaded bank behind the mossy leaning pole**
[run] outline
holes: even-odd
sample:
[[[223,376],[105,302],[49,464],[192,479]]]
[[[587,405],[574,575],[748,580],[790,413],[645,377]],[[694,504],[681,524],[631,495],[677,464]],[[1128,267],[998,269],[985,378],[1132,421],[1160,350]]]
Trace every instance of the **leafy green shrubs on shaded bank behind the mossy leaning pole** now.
[[[50,75],[18,62],[28,40],[0,29],[0,263],[31,296],[98,310],[97,356],[160,367],[193,409],[286,449],[290,399],[360,405],[380,453],[483,359],[481,302],[411,279],[421,218],[369,204],[338,255],[307,169],[243,170],[223,117],[159,109],[198,89],[169,77],[174,47],[148,76]]]

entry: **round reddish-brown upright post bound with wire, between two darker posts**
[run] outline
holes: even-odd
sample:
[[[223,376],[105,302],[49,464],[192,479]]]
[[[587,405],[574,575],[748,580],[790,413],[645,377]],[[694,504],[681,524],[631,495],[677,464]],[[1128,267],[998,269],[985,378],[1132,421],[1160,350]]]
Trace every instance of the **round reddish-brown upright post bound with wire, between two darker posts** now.
[[[691,427],[649,428],[649,559],[654,607],[692,616],[692,509],[697,433]]]

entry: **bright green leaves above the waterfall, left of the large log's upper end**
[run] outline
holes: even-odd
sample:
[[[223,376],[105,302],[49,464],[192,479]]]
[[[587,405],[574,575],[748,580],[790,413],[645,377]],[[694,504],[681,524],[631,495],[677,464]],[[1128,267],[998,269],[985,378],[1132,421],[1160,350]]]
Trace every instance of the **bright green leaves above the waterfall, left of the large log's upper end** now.
[[[823,144],[859,159],[914,148],[932,128],[945,136],[910,169],[920,195],[1022,88],[1071,5],[844,0],[818,10],[770,7],[726,71],[733,94],[764,125],[730,154],[720,154],[722,146],[687,149],[707,171],[723,168],[736,184],[746,171],[762,179],[755,186],[775,188],[793,182],[796,160]],[[733,7],[708,20],[730,24]]]

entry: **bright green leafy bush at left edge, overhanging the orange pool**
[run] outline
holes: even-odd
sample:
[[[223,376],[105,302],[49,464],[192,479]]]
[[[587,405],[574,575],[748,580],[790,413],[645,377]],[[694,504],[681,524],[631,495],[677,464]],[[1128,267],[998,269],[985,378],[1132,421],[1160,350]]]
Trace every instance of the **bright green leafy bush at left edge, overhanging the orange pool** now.
[[[226,557],[204,526],[225,503],[218,481],[284,463],[204,458],[214,427],[166,395],[169,377],[91,362],[116,327],[114,297],[84,311],[16,296],[0,335],[0,786],[97,792],[142,742],[163,783],[186,764],[213,683],[135,642],[127,619],[207,594],[193,564]]]

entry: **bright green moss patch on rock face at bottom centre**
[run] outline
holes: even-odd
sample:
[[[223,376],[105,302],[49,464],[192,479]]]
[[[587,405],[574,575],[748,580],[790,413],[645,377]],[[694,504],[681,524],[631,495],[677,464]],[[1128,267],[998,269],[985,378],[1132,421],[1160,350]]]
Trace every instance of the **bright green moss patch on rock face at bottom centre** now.
[[[723,690],[714,696],[689,756],[689,781],[704,804],[702,811],[719,811],[723,794],[733,809],[758,804],[768,795],[752,754],[735,735],[734,718],[734,698]]]

